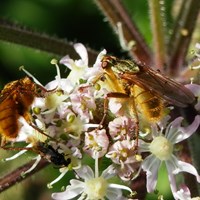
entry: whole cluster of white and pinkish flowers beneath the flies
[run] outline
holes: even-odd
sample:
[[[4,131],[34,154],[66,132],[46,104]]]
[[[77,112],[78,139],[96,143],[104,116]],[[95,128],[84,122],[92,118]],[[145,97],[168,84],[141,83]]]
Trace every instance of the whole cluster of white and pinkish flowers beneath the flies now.
[[[167,114],[156,123],[145,121],[141,111],[130,112],[138,106],[133,105],[134,97],[119,92],[114,95],[116,91],[106,82],[102,68],[106,51],[103,50],[93,67],[89,67],[85,47],[75,44],[74,48],[80,60],[65,56],[60,61],[71,70],[67,78],[61,78],[57,61],[52,60],[57,76],[44,86],[46,94],[36,97],[31,106],[37,129],[20,118],[23,126],[15,142],[26,141],[26,150],[31,148],[38,154],[34,166],[24,175],[45,158],[60,170],[60,176],[49,183],[49,187],[69,170],[73,170],[78,179],[70,180],[64,192],[52,194],[53,199],[121,200],[128,199],[122,190],[129,191],[129,199],[132,198],[135,191],[127,184],[129,181],[134,184],[142,170],[146,172],[147,192],[154,192],[160,165],[165,163],[174,198],[183,199],[178,189],[180,185],[175,181],[176,174],[191,173],[197,182],[200,176],[190,163],[176,157],[175,145],[195,133],[200,115],[187,126],[183,125],[182,117],[170,120]],[[193,91],[192,87],[188,86]],[[199,91],[194,94],[199,96]],[[195,108],[200,110],[199,103]],[[92,160],[94,172],[88,165]],[[100,161],[105,162],[101,176]],[[117,178],[120,184],[116,184]]]

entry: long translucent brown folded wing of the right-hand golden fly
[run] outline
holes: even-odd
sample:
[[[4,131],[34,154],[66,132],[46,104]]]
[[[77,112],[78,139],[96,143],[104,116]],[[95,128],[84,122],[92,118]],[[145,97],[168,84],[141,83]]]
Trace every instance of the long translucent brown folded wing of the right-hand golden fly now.
[[[123,73],[120,78],[136,84],[161,96],[163,99],[179,107],[187,107],[195,102],[193,93],[182,84],[163,76],[149,67],[139,65],[138,73]]]

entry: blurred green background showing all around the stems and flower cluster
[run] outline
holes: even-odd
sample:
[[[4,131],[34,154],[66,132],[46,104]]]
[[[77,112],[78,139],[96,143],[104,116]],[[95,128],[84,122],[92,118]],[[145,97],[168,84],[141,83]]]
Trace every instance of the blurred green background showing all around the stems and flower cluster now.
[[[151,46],[152,36],[148,18],[149,11],[147,1],[123,0],[123,2],[143,33],[145,40]],[[168,23],[168,27],[172,26],[173,15],[168,13],[168,11],[171,10],[173,2],[173,0],[167,1],[166,23]],[[127,56],[126,53],[121,50],[116,34],[93,0],[1,0],[0,18],[13,21],[49,36],[67,39],[72,42],[81,42],[97,52],[105,48],[109,54],[119,57]],[[66,54],[68,54],[68,52],[66,52]],[[54,79],[56,75],[55,68],[50,64],[52,58],[60,59],[61,57],[0,41],[0,88],[2,89],[9,81],[25,76],[22,71],[19,71],[19,67],[22,65],[24,65],[41,83],[46,84],[48,81]],[[60,68],[63,72],[63,76],[66,76],[66,74],[64,74],[65,67],[60,66]],[[0,151],[0,158],[5,158],[13,154],[14,152],[12,151]],[[29,152],[26,156],[22,156],[22,158],[15,161],[6,163],[0,162],[0,176],[11,172],[13,169],[16,169],[17,166],[21,166],[23,163],[31,160],[33,156],[34,155]],[[166,173],[164,168],[161,173],[162,178],[160,181],[162,184],[159,184],[161,186],[159,190],[161,193],[165,194],[165,199],[170,199],[170,196],[168,196],[170,195],[168,194],[168,181],[163,181],[167,179],[165,178]],[[58,169],[48,166],[34,177],[28,178],[24,182],[0,194],[0,199],[51,199],[51,193],[53,191],[60,191],[63,185],[66,186],[71,176],[67,174],[53,189],[47,189],[46,184],[52,181],[58,174]],[[150,199],[150,196],[147,199]],[[155,199],[155,196],[153,196],[152,199]]]

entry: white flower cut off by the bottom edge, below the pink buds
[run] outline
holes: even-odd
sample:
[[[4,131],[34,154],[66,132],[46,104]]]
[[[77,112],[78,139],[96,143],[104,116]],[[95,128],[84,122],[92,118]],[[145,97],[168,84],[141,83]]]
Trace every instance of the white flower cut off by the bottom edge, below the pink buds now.
[[[98,156],[97,156],[98,157]],[[108,179],[115,176],[116,172],[113,166],[109,166],[99,176],[98,172],[98,158],[95,159],[95,173],[89,166],[82,166],[76,170],[77,175],[84,181],[72,179],[69,186],[64,192],[53,193],[52,198],[55,200],[68,200],[79,196],[79,200],[122,200],[122,189],[132,190],[124,185],[114,184],[108,182]]]

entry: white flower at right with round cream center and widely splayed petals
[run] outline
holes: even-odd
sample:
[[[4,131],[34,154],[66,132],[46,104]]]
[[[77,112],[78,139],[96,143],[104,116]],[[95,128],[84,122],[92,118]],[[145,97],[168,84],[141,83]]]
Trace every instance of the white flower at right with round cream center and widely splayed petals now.
[[[191,173],[200,182],[197,170],[191,164],[178,160],[173,154],[174,145],[187,139],[197,130],[200,124],[200,116],[197,115],[193,123],[187,127],[181,127],[182,121],[183,118],[178,117],[171,122],[166,128],[165,135],[159,134],[159,131],[154,132],[153,134],[156,136],[150,144],[140,141],[139,147],[141,152],[151,152],[151,155],[146,157],[142,163],[142,168],[147,174],[148,192],[153,192],[156,187],[158,169],[161,162],[166,164],[170,187],[174,197],[177,192],[175,175],[179,172]]]

